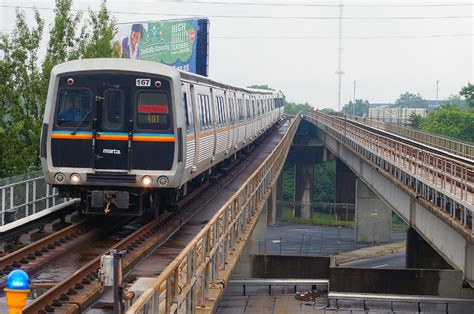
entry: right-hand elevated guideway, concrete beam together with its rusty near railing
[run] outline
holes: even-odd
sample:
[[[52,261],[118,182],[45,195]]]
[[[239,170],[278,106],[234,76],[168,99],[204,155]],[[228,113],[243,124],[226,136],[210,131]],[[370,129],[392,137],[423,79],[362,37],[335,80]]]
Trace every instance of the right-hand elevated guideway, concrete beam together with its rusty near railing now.
[[[474,166],[321,112],[305,119],[378,197],[467,281],[474,280]]]

